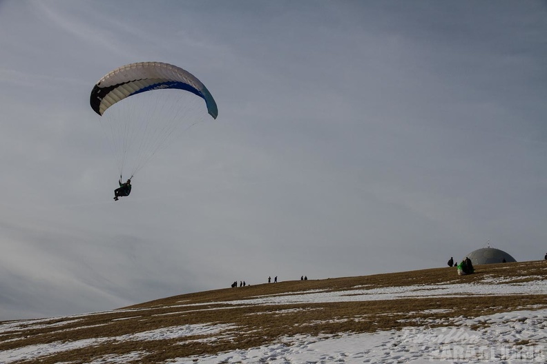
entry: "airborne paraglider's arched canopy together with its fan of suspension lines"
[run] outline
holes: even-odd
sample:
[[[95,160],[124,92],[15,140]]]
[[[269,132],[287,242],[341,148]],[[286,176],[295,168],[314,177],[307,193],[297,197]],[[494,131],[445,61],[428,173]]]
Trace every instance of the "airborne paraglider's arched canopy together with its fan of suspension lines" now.
[[[130,178],[176,130],[185,131],[208,114],[218,117],[211,92],[197,77],[162,62],[131,63],[108,72],[93,87],[90,106],[101,116],[119,175],[127,168]]]

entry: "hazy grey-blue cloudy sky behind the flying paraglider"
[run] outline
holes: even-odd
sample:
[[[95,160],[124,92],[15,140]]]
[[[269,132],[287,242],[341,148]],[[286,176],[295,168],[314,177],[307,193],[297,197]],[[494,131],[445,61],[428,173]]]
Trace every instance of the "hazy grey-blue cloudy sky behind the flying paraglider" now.
[[[545,1],[3,0],[0,34],[0,320],[547,252]],[[89,94],[139,61],[219,115],[115,202]]]

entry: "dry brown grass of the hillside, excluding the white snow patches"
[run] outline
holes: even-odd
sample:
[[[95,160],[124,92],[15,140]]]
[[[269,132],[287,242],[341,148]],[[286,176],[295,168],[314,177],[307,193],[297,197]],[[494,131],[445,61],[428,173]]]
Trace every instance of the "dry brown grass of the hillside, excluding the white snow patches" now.
[[[227,301],[256,296],[297,294],[307,290],[345,291],[355,287],[404,287],[454,283],[480,283],[488,279],[511,279],[511,283],[547,279],[547,262],[479,265],[475,274],[458,276],[454,268],[434,268],[412,272],[375,274],[336,279],[285,281],[208,292],[182,294],[166,299],[124,307],[111,312],[45,319],[40,325],[28,321],[4,330],[0,350],[28,345],[99,339],[79,349],[58,352],[18,363],[86,363],[106,354],[146,352],[146,363],[171,358],[214,354],[280,343],[297,334],[340,334],[400,329],[408,325],[450,325],[458,316],[475,317],[519,309],[547,307],[547,295],[519,294],[501,296],[408,297],[386,301],[337,303],[298,303],[287,305],[231,305]],[[200,305],[195,305],[200,304]],[[427,310],[434,310],[428,312]],[[440,321],[439,321],[440,320]],[[434,322],[434,323],[432,323]],[[442,323],[439,323],[442,322]],[[8,324],[6,321],[3,324]],[[224,324],[222,335],[184,336],[162,340],[115,340],[113,338],[162,327],[189,324]],[[486,323],[485,323],[486,325]],[[110,339],[112,338],[112,339]],[[207,340],[207,338],[209,338]]]

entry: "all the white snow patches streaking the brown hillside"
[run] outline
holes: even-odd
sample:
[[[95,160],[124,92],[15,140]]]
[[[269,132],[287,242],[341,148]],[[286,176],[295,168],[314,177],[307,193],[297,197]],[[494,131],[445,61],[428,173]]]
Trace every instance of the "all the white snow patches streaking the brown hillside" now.
[[[493,281],[483,283],[416,285],[385,287],[367,290],[354,287],[343,292],[309,291],[285,295],[257,296],[253,299],[229,301],[232,305],[260,305],[276,303],[370,301],[396,299],[403,296],[454,296],[486,294],[547,294],[547,281],[526,283]],[[495,284],[496,283],[496,284]],[[180,307],[200,305],[179,303]],[[209,310],[209,309],[207,309]],[[302,310],[302,309],[295,309]],[[138,310],[127,310],[135,311]],[[282,314],[284,310],[279,310]],[[285,310],[287,311],[287,310]],[[271,313],[271,312],[270,312]],[[389,330],[366,334],[340,333],[329,336],[292,336],[280,338],[277,343],[249,350],[235,350],[215,355],[176,358],[169,364],[217,363],[547,363],[547,303],[543,307],[522,307],[472,319],[461,316],[448,321],[430,319],[426,322],[407,321],[403,330]],[[75,322],[78,316],[72,316]],[[443,327],[432,327],[442,324]],[[4,332],[17,325],[43,327],[44,320],[21,321],[0,325],[0,341]],[[55,324],[56,330],[57,325]],[[59,327],[62,330],[62,327]],[[181,338],[199,334],[227,336],[237,330],[233,325],[183,325],[164,327],[126,336],[94,338],[79,341],[31,345],[0,352],[0,363],[37,359],[55,352],[78,347],[98,345],[104,341],[144,341],[161,338]],[[209,340],[209,339],[206,339]],[[124,355],[108,354],[92,364],[118,364],[138,361],[148,353],[135,351]]]

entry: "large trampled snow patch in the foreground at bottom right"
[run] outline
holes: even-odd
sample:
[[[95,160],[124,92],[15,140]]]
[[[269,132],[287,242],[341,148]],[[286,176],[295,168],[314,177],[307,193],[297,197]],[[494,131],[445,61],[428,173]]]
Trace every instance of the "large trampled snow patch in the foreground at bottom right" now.
[[[180,358],[170,363],[547,363],[546,315],[547,310],[517,311],[460,319],[452,327],[410,326],[373,334],[298,336],[283,340],[289,345]],[[470,329],[484,323],[489,325]]]

